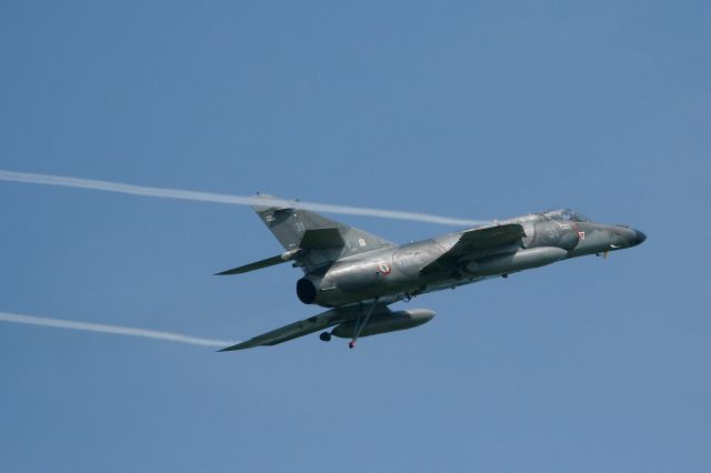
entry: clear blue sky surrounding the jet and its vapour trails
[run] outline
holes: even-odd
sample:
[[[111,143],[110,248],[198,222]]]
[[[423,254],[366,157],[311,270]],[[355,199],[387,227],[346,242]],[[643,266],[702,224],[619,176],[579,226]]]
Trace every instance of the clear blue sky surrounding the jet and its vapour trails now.
[[[7,2],[0,169],[649,239],[211,348],[0,322],[0,471],[711,471],[709,2]],[[0,182],[0,311],[244,340],[310,316],[248,208]],[[398,242],[457,230],[337,217]]]

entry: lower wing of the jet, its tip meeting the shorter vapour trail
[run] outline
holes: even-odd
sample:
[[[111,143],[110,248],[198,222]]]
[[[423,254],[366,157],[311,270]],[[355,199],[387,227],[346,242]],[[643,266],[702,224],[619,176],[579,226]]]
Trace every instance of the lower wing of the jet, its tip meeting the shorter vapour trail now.
[[[388,311],[385,304],[377,309],[377,312]],[[246,350],[254,346],[272,346],[279,343],[288,342],[289,340],[298,339],[299,336],[308,335],[309,333],[318,332],[319,330],[328,329],[341,322],[356,319],[362,309],[360,305],[347,305],[343,308],[331,309],[322,312],[318,315],[310,316],[298,322],[290,323],[289,325],[281,326],[261,335],[257,335],[246,342],[238,343],[232,346],[218,350],[219,352],[231,352],[236,350]]]

